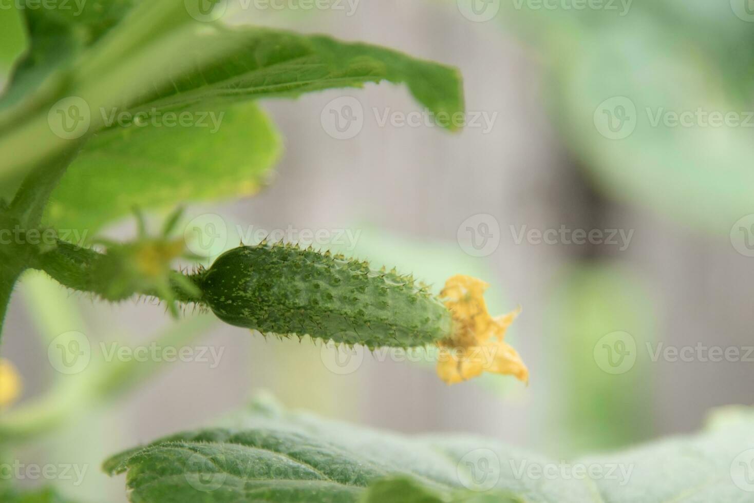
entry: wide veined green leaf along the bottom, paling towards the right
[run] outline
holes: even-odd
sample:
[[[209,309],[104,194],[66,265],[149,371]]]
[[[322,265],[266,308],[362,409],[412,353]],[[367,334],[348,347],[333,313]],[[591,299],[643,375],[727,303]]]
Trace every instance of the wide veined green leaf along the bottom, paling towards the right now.
[[[127,472],[134,503],[743,503],[752,492],[738,471],[752,446],[748,409],[720,413],[702,434],[566,462],[489,439],[409,437],[259,403],[221,428],[166,437],[104,468]]]

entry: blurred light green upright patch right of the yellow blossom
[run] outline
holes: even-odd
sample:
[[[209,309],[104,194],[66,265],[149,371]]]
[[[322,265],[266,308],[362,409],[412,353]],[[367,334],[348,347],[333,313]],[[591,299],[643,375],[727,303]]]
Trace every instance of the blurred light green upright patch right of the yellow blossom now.
[[[550,431],[561,452],[622,447],[651,436],[651,292],[610,264],[567,270],[547,312],[546,356],[557,376]],[[624,358],[621,358],[621,355]]]

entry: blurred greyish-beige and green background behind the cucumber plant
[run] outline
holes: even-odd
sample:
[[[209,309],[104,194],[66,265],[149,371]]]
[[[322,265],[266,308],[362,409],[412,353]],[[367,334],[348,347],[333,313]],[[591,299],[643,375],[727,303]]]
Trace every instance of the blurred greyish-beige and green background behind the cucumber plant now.
[[[448,387],[406,355],[348,359],[188,316],[178,330],[195,337],[179,347],[193,357],[152,365],[135,391],[82,411],[20,459],[88,465],[81,486],[63,489],[124,501],[101,460],[207,425],[260,389],[333,418],[468,431],[552,456],[694,431],[713,407],[754,402],[749,0],[327,5],[231,2],[227,17],[457,66],[467,127],[401,123],[423,111],[390,84],[262,102],[284,142],[274,184],[248,200],[189,206],[188,218],[222,215],[227,247],[277,233],[395,265],[436,289],[456,273],[485,279],[493,313],[523,306],[507,337],[529,386],[485,376]],[[133,223],[108,234],[127,239]],[[45,398],[81,378],[51,364],[60,334],[86,334],[97,353],[112,347],[101,341],[148,347],[173,323],[148,303],[95,302],[27,276],[2,347],[23,374],[16,410],[65,409],[68,398]]]

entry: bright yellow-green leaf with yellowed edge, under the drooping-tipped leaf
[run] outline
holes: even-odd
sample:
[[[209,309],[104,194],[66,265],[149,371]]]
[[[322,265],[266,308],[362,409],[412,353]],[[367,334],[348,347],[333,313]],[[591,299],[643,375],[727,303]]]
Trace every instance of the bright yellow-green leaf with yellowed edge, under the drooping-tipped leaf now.
[[[231,199],[267,184],[281,142],[264,111],[254,103],[238,105],[213,111],[206,124],[133,125],[93,137],[53,192],[44,224],[91,239],[134,206]]]

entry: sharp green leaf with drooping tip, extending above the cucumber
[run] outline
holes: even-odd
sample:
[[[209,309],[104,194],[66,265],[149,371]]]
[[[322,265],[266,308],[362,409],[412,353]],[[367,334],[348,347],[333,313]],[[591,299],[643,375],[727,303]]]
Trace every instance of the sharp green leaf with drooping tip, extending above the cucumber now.
[[[221,30],[216,37],[231,41],[234,51],[156,90],[141,108],[298,96],[390,81],[405,83],[418,102],[436,114],[464,110],[457,69],[395,50],[247,26]]]

